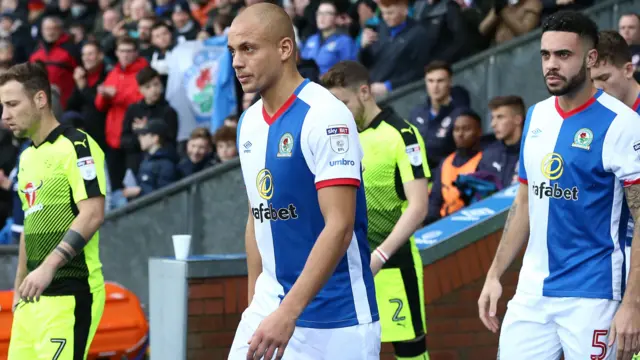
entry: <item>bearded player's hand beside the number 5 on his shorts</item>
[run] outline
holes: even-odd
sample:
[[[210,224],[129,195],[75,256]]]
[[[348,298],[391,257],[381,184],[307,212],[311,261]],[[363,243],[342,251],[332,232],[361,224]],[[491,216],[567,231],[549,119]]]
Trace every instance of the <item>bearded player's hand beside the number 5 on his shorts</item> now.
[[[640,351],[640,309],[624,302],[616,312],[609,332],[609,347],[618,341],[616,360],[631,360]]]

